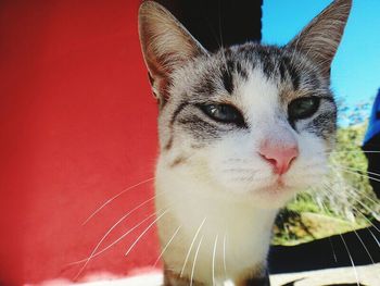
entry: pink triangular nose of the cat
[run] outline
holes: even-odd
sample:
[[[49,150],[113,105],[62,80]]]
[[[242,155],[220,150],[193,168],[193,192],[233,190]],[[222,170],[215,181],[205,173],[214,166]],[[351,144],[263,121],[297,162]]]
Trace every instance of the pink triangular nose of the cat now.
[[[288,172],[290,164],[299,156],[299,148],[296,145],[282,146],[266,141],[261,146],[258,153],[273,165],[276,174],[282,175]]]

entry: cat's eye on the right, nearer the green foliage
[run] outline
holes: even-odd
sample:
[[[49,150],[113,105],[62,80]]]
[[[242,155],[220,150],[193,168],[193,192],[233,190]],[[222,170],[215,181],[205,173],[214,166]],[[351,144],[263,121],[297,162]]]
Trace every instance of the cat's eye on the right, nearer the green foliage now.
[[[319,108],[320,99],[317,97],[297,98],[290,102],[288,115],[291,121],[312,116]]]

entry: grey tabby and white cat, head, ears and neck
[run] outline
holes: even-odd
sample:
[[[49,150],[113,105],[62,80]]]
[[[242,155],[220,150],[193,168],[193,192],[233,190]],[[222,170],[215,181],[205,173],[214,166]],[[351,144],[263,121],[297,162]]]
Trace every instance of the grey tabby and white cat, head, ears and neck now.
[[[330,66],[351,7],[333,1],[284,47],[211,52],[165,8],[141,4],[140,43],[160,109],[165,286],[269,285],[278,210],[328,170],[337,129]]]

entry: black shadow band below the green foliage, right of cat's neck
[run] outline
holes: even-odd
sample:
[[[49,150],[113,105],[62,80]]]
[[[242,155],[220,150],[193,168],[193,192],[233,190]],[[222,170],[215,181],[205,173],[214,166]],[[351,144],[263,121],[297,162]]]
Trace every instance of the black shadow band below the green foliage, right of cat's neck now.
[[[355,266],[378,263],[379,229],[380,222],[373,222],[371,227],[358,229],[356,233],[334,235],[297,246],[273,246],[268,258],[269,272],[277,274],[352,266],[352,261]]]

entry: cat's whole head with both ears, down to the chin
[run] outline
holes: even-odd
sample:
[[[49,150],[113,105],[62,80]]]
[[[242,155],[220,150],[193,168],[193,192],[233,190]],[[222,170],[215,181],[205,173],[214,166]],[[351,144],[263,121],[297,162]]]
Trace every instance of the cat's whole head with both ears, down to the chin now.
[[[350,9],[350,0],[332,2],[284,47],[212,53],[144,2],[139,32],[160,102],[160,167],[269,207],[318,184],[337,124],[330,66]]]

